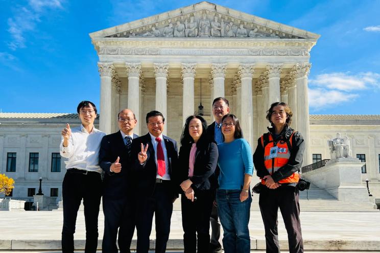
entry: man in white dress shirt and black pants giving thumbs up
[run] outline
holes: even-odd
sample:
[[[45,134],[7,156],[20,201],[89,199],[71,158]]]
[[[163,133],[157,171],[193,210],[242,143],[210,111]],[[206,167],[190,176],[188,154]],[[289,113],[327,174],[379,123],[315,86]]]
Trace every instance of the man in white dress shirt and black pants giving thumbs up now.
[[[66,124],[61,132],[60,154],[68,158],[62,183],[63,253],[74,252],[75,223],[82,199],[86,224],[85,252],[96,252],[98,246],[98,215],[102,195],[99,150],[105,133],[93,125],[97,108],[92,102],[80,102],[77,112],[82,124],[75,128]]]

